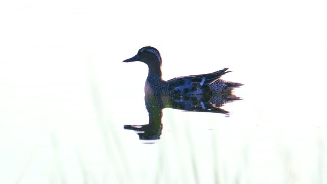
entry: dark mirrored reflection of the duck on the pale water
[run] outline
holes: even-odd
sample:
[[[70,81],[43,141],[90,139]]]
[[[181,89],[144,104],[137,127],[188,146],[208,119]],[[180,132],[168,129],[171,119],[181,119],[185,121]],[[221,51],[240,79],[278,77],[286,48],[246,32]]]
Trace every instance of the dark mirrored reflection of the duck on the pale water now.
[[[221,113],[229,116],[229,112],[220,107],[228,102],[241,100],[229,91],[216,95],[145,95],[145,106],[149,113],[149,124],[124,125],[124,129],[134,130],[144,143],[155,143],[162,133],[162,109],[173,108],[183,111]]]

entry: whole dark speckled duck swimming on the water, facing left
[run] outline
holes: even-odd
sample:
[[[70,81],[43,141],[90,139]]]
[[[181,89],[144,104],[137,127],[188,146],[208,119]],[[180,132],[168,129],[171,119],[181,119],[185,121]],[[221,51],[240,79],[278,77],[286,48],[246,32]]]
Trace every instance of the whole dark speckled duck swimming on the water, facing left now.
[[[148,65],[149,71],[145,82],[145,94],[153,95],[200,95],[200,94],[222,94],[231,93],[232,89],[243,84],[227,82],[220,79],[221,76],[231,72],[224,68],[216,72],[199,75],[175,77],[165,81],[162,79],[162,58],[160,52],[152,47],[146,46],[138,50],[137,54],[124,63],[141,61]]]

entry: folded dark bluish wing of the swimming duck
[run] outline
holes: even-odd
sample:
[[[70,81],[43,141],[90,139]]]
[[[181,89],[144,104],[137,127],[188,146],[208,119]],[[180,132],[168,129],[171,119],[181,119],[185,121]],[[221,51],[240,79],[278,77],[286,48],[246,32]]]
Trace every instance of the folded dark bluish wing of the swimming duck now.
[[[173,90],[176,95],[189,92],[200,93],[203,89],[209,88],[209,85],[218,80],[222,75],[231,72],[226,72],[226,70],[228,70],[228,68],[208,74],[176,77],[167,82],[170,84],[170,90]]]

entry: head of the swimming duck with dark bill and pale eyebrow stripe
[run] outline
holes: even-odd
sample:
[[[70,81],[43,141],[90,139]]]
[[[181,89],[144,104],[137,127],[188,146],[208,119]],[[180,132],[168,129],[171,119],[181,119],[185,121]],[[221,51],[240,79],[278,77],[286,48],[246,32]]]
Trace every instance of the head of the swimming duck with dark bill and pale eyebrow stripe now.
[[[124,60],[123,62],[133,62],[133,61],[141,61],[146,64],[154,64],[153,62],[159,62],[160,66],[162,64],[162,59],[160,52],[151,46],[146,46],[138,50],[138,53],[129,59]]]

